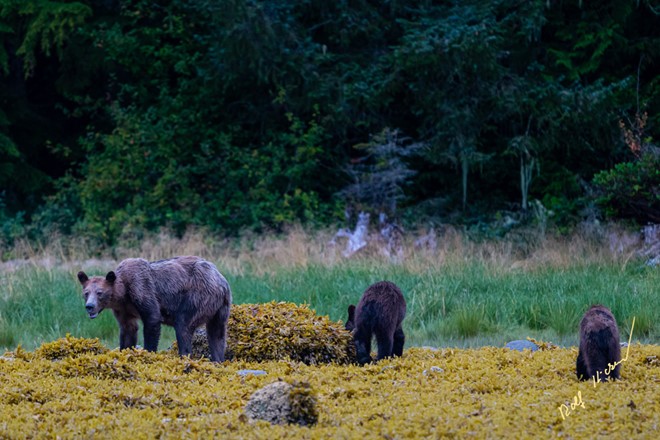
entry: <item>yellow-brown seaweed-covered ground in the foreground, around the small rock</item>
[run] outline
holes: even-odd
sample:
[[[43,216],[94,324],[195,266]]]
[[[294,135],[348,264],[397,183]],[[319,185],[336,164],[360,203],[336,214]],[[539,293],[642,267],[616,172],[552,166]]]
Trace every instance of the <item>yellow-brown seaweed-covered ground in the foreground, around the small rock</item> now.
[[[0,358],[0,437],[656,438],[660,347],[626,353],[622,380],[594,384],[577,381],[576,348],[409,348],[365,367],[213,364],[68,337]],[[316,425],[245,416],[250,396],[278,379],[311,385]]]

